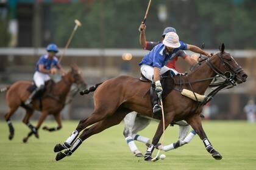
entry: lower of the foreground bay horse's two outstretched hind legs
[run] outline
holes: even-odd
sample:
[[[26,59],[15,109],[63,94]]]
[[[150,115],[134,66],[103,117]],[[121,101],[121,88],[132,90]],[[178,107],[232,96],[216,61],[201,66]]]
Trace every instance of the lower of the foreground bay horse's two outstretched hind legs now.
[[[74,151],[76,151],[76,149],[80,146],[80,144],[82,144],[82,142],[85,139],[87,139],[91,135],[98,134],[99,132],[104,131],[108,127],[119,124],[124,119],[126,114],[129,112],[130,111],[127,111],[126,109],[118,109],[118,111],[116,111],[115,114],[107,118],[104,118],[103,120],[99,121],[98,123],[95,123],[88,129],[85,129],[80,135],[80,137],[78,137],[76,141],[73,142],[73,145],[69,149],[66,149],[65,152],[59,152],[56,155],[55,159],[58,161],[66,156],[70,156],[71,154],[73,154]]]

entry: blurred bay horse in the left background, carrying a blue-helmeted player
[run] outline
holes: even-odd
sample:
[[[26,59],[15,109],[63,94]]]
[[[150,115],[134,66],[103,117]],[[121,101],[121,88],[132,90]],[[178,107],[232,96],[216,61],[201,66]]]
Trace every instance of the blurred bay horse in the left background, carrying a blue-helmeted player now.
[[[50,132],[60,130],[62,128],[60,111],[65,106],[66,97],[73,83],[84,84],[84,86],[86,86],[79,73],[78,67],[75,65],[71,66],[71,70],[66,73],[66,75],[62,77],[62,80],[60,80],[58,83],[52,83],[52,86],[49,83],[46,83],[46,91],[44,92],[43,96],[35,99],[32,102],[32,106],[26,106],[24,104],[30,95],[30,92],[27,89],[32,86],[31,81],[16,81],[11,86],[2,88],[1,92],[7,91],[6,101],[9,106],[9,112],[5,114],[5,120],[9,126],[9,140],[12,140],[14,136],[14,127],[10,121],[10,117],[12,117],[20,106],[26,110],[23,123],[26,124],[31,130],[27,137],[23,138],[24,143],[27,142],[28,138],[32,134],[35,134],[35,137],[39,138],[38,129],[48,115],[54,116],[58,126],[51,128],[44,126],[43,129]],[[41,112],[37,126],[33,126],[29,122],[34,110],[39,110]]]

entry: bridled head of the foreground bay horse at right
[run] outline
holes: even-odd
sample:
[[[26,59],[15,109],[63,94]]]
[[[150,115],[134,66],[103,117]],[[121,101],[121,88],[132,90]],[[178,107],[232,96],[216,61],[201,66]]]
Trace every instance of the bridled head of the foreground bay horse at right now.
[[[224,52],[224,44],[221,45],[219,50],[220,52],[216,55],[220,60],[219,71],[222,75],[226,78],[233,78],[238,84],[246,82],[247,74],[229,53]]]

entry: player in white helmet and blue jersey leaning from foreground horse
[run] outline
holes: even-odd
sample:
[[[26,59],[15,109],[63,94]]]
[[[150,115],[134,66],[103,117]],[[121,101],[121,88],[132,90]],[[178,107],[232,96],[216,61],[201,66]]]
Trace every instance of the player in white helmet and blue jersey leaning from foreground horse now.
[[[204,50],[201,50],[199,47],[179,41],[177,33],[169,32],[166,33],[163,42],[160,42],[151,50],[151,52],[144,56],[139,64],[139,66],[141,66],[141,73],[144,77],[152,81],[151,98],[154,115],[161,112],[157,96],[158,94],[162,95],[163,92],[162,84],[160,83],[160,75],[171,70],[169,67],[166,67],[165,64],[168,63],[169,60],[173,60],[179,50],[191,50],[195,53],[210,56],[210,54],[204,52]]]

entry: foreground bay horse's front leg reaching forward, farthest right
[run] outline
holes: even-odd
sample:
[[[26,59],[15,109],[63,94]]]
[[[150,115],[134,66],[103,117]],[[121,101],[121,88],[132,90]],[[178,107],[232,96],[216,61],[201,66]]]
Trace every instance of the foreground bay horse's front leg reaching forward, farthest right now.
[[[204,142],[204,146],[205,149],[212,154],[212,157],[215,158],[216,160],[221,160],[222,156],[221,154],[219,154],[219,152],[217,152],[212,144],[210,143],[210,141],[207,138],[207,135],[204,132],[204,129],[202,128],[202,122],[201,122],[201,118],[199,115],[194,115],[193,117],[190,117],[187,119],[188,124],[191,125],[191,127],[193,127],[194,131],[196,131],[196,134],[199,135],[199,137],[201,138],[201,140]]]

